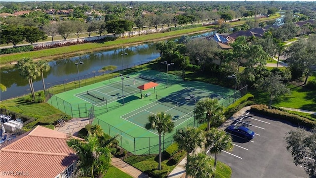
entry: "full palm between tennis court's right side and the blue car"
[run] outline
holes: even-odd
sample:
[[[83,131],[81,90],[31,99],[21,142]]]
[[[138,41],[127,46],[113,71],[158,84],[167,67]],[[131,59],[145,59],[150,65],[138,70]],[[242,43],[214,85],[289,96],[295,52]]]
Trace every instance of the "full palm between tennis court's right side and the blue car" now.
[[[199,123],[207,122],[207,131],[210,126],[214,126],[225,120],[223,106],[217,99],[203,98],[197,102],[195,110]]]

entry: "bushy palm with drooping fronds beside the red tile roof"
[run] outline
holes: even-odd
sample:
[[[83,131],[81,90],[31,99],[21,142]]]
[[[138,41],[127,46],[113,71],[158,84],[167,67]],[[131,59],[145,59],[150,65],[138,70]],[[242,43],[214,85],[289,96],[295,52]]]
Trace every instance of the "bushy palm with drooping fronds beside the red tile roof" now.
[[[90,176],[94,178],[103,176],[111,163],[111,150],[108,147],[102,147],[98,137],[89,134],[85,141],[71,138],[67,145],[72,148],[79,161],[75,174],[77,176]]]

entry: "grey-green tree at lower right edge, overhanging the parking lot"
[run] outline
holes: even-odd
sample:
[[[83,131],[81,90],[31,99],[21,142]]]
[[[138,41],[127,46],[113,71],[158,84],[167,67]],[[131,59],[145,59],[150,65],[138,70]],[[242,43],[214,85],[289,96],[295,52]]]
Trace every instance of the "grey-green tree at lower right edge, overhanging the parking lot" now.
[[[316,176],[316,132],[307,133],[302,128],[290,131],[285,137],[286,149],[291,152],[296,166],[302,166],[311,177]]]

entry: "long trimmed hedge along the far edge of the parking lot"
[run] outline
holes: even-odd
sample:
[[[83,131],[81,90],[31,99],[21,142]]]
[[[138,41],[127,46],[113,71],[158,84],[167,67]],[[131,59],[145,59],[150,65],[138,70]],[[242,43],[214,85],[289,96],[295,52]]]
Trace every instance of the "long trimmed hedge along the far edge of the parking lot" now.
[[[308,118],[304,118],[295,114],[291,114],[285,111],[281,111],[278,109],[269,109],[267,105],[253,105],[251,106],[251,111],[257,112],[259,114],[263,114],[266,116],[282,119],[285,121],[289,121],[294,125],[305,126],[309,128],[313,128],[316,125],[316,121],[309,120]]]

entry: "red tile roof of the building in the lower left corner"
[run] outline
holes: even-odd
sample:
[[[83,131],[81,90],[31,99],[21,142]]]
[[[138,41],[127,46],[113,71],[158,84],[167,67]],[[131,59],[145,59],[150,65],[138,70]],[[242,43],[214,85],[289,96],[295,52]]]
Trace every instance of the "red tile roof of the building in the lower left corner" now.
[[[66,140],[67,134],[37,126],[3,144],[0,178],[55,178],[78,159]]]

